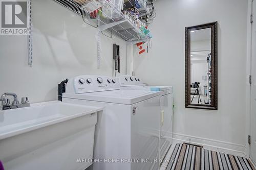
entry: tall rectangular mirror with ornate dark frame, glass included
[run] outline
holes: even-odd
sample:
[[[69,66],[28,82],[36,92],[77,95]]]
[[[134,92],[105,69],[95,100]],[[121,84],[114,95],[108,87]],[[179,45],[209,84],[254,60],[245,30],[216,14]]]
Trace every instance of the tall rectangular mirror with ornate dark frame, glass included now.
[[[185,107],[218,110],[218,22],[185,28]]]

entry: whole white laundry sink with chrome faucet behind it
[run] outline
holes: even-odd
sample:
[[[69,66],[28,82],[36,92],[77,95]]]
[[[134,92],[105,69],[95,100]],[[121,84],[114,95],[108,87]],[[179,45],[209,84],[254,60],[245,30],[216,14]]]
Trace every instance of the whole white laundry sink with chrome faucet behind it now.
[[[6,169],[85,169],[100,107],[59,101],[0,111],[0,160]]]

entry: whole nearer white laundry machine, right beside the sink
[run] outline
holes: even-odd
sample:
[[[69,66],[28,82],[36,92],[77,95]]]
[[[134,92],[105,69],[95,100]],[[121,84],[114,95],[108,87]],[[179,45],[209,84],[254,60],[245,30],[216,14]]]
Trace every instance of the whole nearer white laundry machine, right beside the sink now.
[[[69,79],[63,102],[100,106],[95,129],[96,170],[158,169],[160,92],[123,90],[106,76]]]

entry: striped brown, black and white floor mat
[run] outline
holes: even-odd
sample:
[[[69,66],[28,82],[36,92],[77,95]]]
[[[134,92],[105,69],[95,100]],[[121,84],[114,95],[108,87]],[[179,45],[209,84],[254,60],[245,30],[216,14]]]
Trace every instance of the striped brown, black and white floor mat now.
[[[243,157],[209,151],[193,145],[177,143],[166,170],[170,169],[250,169],[252,163]]]

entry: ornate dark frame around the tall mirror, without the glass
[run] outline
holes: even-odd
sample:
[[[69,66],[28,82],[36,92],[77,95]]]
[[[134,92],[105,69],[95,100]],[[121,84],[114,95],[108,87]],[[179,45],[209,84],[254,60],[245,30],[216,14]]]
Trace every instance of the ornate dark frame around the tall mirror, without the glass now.
[[[190,102],[190,31],[211,28],[211,105],[191,104]],[[218,22],[205,23],[185,28],[185,107],[218,110]]]

